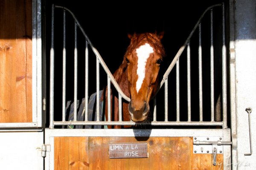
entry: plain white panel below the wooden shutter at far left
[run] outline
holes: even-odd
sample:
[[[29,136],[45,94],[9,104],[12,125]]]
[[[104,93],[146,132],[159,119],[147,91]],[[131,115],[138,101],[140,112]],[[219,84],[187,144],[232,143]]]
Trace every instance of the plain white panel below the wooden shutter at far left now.
[[[0,132],[1,170],[44,170],[43,132]]]

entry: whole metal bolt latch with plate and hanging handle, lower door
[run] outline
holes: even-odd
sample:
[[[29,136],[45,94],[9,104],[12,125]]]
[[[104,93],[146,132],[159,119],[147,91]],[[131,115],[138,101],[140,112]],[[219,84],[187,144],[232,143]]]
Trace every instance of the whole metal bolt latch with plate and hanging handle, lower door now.
[[[193,137],[194,153],[212,154],[212,164],[216,165],[216,154],[223,154],[223,145],[231,145],[232,142],[224,142],[223,137]]]

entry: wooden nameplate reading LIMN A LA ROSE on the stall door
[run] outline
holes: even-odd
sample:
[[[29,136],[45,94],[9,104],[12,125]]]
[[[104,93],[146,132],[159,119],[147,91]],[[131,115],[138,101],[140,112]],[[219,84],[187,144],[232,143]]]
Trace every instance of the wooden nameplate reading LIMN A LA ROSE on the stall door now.
[[[109,158],[147,158],[147,143],[109,144]]]

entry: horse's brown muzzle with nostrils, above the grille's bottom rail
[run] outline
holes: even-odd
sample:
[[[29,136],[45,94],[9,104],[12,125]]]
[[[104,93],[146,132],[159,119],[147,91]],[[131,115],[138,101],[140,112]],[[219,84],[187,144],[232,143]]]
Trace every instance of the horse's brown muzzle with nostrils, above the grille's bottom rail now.
[[[128,110],[133,122],[144,122],[148,118],[149,105],[147,102],[143,102],[143,105],[134,105],[133,102],[129,102]]]

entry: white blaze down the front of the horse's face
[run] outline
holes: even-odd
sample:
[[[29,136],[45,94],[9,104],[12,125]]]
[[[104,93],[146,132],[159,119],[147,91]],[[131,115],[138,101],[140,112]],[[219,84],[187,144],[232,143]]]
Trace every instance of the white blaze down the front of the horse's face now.
[[[147,63],[147,59],[148,59],[149,55],[153,52],[154,52],[153,48],[148,43],[141,45],[136,50],[137,57],[138,57],[138,67],[137,67],[138,79],[137,79],[137,83],[136,83],[137,93],[139,92],[142,82],[145,78],[145,66]]]

